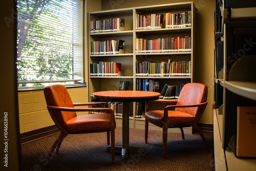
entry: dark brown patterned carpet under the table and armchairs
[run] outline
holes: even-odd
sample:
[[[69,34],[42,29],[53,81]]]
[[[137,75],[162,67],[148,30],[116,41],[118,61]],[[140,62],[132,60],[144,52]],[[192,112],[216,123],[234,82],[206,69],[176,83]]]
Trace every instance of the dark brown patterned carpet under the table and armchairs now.
[[[121,145],[121,128],[115,131],[116,146]],[[53,155],[47,167],[46,156],[58,134],[22,144],[23,170],[214,170],[213,133],[204,132],[211,147],[207,152],[199,134],[168,132],[167,159],[162,158],[162,133],[148,132],[148,144],[144,143],[144,130],[130,129],[130,145],[146,148],[141,156],[131,153],[122,159],[116,152],[115,164],[106,151],[106,133],[68,135],[62,142],[59,154]]]

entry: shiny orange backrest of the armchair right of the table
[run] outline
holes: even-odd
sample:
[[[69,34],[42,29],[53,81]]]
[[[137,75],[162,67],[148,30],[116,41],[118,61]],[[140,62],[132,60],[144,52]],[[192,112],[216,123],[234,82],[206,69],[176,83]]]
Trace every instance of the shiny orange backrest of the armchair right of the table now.
[[[177,105],[198,104],[207,101],[208,88],[205,84],[190,82],[181,89]],[[205,106],[195,108],[176,108],[176,111],[189,113],[193,116],[203,113]]]

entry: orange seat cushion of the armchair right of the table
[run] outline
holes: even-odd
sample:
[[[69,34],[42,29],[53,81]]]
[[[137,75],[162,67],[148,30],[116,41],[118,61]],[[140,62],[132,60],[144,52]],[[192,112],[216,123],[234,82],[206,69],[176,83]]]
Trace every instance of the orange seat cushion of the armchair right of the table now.
[[[148,111],[145,113],[145,118],[148,122],[157,126],[163,126],[163,110]],[[195,121],[193,115],[180,112],[180,111],[168,111],[169,127],[179,127],[180,125],[191,125]]]

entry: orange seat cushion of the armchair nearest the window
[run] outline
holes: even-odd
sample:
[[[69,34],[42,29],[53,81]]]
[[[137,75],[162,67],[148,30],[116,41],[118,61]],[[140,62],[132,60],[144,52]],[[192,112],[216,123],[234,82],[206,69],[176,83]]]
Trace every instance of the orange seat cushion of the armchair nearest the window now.
[[[110,131],[110,114],[98,113],[76,116],[67,122],[71,134]]]

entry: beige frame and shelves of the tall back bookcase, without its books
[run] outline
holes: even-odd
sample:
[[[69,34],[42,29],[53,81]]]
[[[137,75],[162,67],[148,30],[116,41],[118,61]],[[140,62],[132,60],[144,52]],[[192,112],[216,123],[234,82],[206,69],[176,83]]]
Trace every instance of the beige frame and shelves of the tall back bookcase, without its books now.
[[[136,28],[136,18],[138,15],[148,15],[148,14],[163,14],[163,23],[165,23],[166,13],[185,13],[185,11],[191,12],[190,25],[188,25],[188,19],[186,18],[186,23],[183,27],[176,28],[165,28],[165,24],[162,25],[162,28],[158,29],[145,29],[139,30]],[[196,8],[193,2],[186,3],[174,3],[174,4],[163,4],[163,5],[154,5],[154,6],[142,6],[142,7],[133,7],[133,8],[124,8],[124,9],[115,9],[115,10],[105,10],[105,11],[96,11],[89,13],[89,63],[99,63],[103,62],[119,62],[122,63],[121,71],[124,76],[93,76],[89,74],[89,101],[93,99],[92,93],[96,91],[106,91],[106,90],[119,90],[119,81],[129,80],[129,90],[137,90],[136,81],[138,79],[149,79],[151,81],[159,82],[159,91],[161,92],[165,84],[172,84],[174,86],[181,83],[193,82],[194,81],[194,63],[195,63],[195,22],[196,22]],[[189,15],[190,16],[190,15]],[[94,25],[94,22],[99,20],[108,20],[113,18],[122,18],[124,19],[124,28],[122,30],[116,31],[108,30],[108,32],[101,32],[103,29],[93,30],[91,24]],[[181,18],[179,20],[182,20]],[[106,30],[104,30],[106,31]],[[165,37],[173,38],[185,38],[187,36],[187,45],[190,45],[191,48],[184,48],[186,51],[180,52],[160,52],[160,53],[136,53],[136,39],[145,38],[145,39],[158,39]],[[91,54],[91,42],[97,41],[107,41],[107,40],[124,40],[124,53],[123,54]],[[181,39],[180,39],[181,40]],[[184,41],[184,39],[183,39]],[[177,42],[176,42],[176,45]],[[186,46],[187,46],[186,45]],[[181,42],[180,42],[181,46]],[[183,44],[182,44],[183,46]],[[181,49],[181,48],[180,48]],[[138,76],[136,74],[136,63],[141,63],[143,61],[150,61],[152,63],[160,63],[162,61],[168,62],[187,62],[186,67],[189,66],[190,74],[189,76]],[[184,63],[183,63],[184,64]],[[183,65],[184,66],[184,65]],[[89,70],[90,71],[90,70]],[[184,68],[183,68],[184,71]],[[178,72],[181,73],[181,72]],[[173,103],[177,100],[163,100],[164,102]],[[144,116],[142,114],[141,118],[137,118],[136,112],[138,104],[136,102],[130,104],[130,127],[142,128],[144,127]],[[143,106],[143,105],[142,105]],[[157,104],[153,104],[155,108]],[[143,110],[144,111],[144,110]],[[116,116],[116,119],[119,121],[122,117]],[[119,124],[120,125],[120,124]],[[151,126],[153,127],[153,126]],[[191,132],[189,129],[188,132]]]

